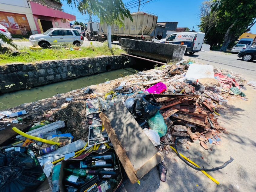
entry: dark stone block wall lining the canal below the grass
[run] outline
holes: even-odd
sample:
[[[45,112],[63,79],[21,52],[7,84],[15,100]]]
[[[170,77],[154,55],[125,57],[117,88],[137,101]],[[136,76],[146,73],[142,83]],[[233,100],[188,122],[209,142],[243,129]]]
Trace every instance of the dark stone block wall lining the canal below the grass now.
[[[0,66],[0,93],[65,81],[131,65],[126,56],[43,61]]]

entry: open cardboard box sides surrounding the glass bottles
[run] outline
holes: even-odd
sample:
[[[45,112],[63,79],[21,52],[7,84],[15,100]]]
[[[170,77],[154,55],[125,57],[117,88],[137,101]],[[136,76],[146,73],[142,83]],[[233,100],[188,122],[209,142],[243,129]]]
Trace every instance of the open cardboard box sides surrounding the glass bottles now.
[[[72,162],[74,161],[82,161],[84,158],[86,158],[87,156],[89,155],[96,155],[96,154],[104,154],[106,152],[114,152],[115,151],[113,149],[102,149],[102,150],[98,150],[98,151],[91,151],[89,153],[86,153],[86,154],[83,154],[83,155],[80,155],[78,157],[75,157],[71,160],[67,160],[67,161],[62,161],[61,162],[61,168],[60,168],[60,178],[59,178],[59,187],[60,187],[60,192],[66,192],[66,186],[65,186],[65,177],[70,175],[71,173],[65,173],[65,171],[63,170],[64,167],[68,167],[69,164],[71,164]],[[118,159],[118,156],[117,154],[115,153],[115,156],[116,156],[116,159],[117,159],[117,162],[118,162],[118,167],[119,167],[119,170],[120,170],[120,176],[121,176],[121,179],[117,185],[117,187],[114,189],[113,188],[113,192],[115,192],[118,187],[121,186],[122,182],[123,182],[123,177],[122,177],[122,173],[121,173],[121,167],[120,167],[120,164],[119,164],[119,159]]]

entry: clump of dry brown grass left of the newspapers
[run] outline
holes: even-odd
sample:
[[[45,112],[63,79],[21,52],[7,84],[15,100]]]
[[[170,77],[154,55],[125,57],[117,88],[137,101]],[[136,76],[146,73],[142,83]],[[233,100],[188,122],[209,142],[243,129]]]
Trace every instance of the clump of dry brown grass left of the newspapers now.
[[[65,121],[65,133],[71,133],[75,141],[88,141],[88,124],[86,122],[86,101],[73,101],[66,108],[52,114],[55,120]]]

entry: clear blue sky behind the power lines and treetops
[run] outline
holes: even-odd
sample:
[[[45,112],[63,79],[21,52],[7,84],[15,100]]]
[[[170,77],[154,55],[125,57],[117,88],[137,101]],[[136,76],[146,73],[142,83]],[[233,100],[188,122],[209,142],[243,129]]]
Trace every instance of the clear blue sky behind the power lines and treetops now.
[[[149,1],[149,2],[147,2]],[[178,22],[177,27],[188,27],[190,30],[194,27],[198,31],[197,25],[200,20],[198,17],[198,7],[204,0],[141,0],[140,11],[151,12],[158,15],[158,22]],[[138,11],[139,0],[123,0],[130,12]],[[147,2],[147,3],[145,3]],[[69,7],[65,0],[62,1],[62,8],[65,12],[75,15],[77,21],[88,22],[88,15],[82,15]],[[144,6],[144,7],[143,7]],[[99,22],[97,16],[92,16],[93,22]],[[251,33],[256,34],[256,24],[251,28]]]

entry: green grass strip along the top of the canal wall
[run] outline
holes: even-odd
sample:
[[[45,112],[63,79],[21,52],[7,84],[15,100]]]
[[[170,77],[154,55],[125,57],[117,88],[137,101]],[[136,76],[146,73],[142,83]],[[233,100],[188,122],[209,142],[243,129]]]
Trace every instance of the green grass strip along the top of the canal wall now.
[[[104,43],[102,46],[95,46],[95,51],[91,51],[86,47],[81,47],[81,51],[70,51],[65,48],[60,49],[42,49],[41,51],[32,51],[29,47],[21,47],[19,51],[23,54],[19,56],[12,56],[11,54],[0,54],[0,65],[9,63],[35,63],[38,61],[59,60],[59,59],[73,59],[73,58],[94,58],[101,55],[120,55],[126,53],[117,45],[112,45],[112,50]]]

